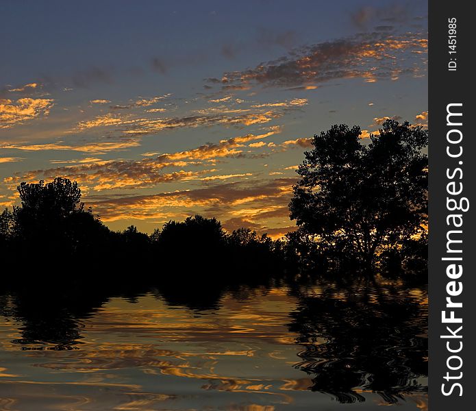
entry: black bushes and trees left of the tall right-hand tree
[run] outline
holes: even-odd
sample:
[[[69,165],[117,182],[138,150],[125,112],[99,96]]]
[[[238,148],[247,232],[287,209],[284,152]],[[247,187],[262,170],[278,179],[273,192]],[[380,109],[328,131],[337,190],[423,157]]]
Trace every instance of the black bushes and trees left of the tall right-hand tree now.
[[[277,242],[249,229],[227,234],[216,219],[196,215],[169,221],[151,236],[133,225],[112,232],[92,210],[84,209],[76,182],[58,177],[48,184],[22,183],[18,192],[21,206],[0,214],[1,260],[5,267],[22,271],[10,282],[25,277],[40,282],[40,273],[73,284],[92,279],[95,284],[123,278],[130,282],[134,272],[138,284],[160,277],[164,292],[167,284],[186,284],[182,297],[192,300],[204,279],[218,298],[226,286],[262,283],[284,272],[283,255],[275,252]],[[279,272],[273,273],[278,266]]]

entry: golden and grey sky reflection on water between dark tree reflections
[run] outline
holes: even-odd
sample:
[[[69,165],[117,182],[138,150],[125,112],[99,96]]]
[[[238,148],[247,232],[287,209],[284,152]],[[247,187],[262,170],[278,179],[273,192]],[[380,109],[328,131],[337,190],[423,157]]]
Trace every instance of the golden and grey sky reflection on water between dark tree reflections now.
[[[319,292],[319,290],[314,290]],[[413,294],[412,294],[413,293]],[[418,290],[409,292],[425,299]],[[311,392],[297,334],[288,329],[298,301],[288,290],[225,296],[219,310],[193,312],[153,295],[136,303],[112,298],[79,323],[71,350],[18,345],[22,324],[0,317],[0,410],[331,410]],[[315,344],[326,343],[317,339]],[[52,348],[53,345],[51,345]],[[48,348],[48,347],[47,347]],[[357,390],[371,410],[388,405]],[[424,394],[401,406],[426,409]],[[349,407],[349,405],[347,405]]]

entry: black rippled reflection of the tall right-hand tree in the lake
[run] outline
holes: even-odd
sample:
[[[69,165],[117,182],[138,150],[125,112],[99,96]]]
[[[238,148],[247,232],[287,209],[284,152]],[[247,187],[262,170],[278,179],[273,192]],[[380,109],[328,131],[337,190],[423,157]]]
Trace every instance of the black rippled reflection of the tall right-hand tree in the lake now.
[[[426,305],[395,288],[334,291],[301,296],[291,313],[290,331],[305,346],[297,367],[313,375],[311,389],[341,403],[364,401],[360,390],[379,393],[388,403],[426,392]]]

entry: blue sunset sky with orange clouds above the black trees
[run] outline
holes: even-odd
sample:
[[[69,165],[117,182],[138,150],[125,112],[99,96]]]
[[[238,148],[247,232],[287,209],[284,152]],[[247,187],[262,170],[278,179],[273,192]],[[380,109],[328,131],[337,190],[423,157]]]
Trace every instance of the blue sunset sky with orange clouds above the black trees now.
[[[112,229],[271,236],[310,138],[427,124],[427,1],[2,1],[0,207],[76,180]]]

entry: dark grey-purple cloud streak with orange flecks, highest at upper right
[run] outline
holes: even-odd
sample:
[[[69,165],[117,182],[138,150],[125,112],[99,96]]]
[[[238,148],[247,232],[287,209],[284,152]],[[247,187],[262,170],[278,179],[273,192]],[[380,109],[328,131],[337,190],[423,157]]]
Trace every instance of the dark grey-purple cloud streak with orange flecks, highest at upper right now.
[[[305,87],[348,78],[362,78],[365,82],[397,79],[399,75],[415,73],[418,69],[412,62],[426,51],[427,40],[416,34],[360,34],[295,49],[254,69],[224,73],[220,79],[211,78],[208,82],[229,89]]]

